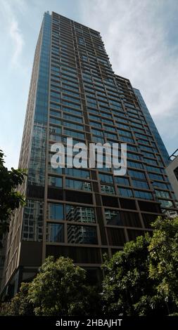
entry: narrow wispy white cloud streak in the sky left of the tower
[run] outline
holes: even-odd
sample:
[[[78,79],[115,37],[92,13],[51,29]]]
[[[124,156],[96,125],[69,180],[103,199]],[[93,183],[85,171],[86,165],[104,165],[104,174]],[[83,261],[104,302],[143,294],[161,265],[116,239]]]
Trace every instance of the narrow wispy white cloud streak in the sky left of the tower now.
[[[25,3],[23,0],[1,0],[1,10],[4,14],[4,19],[6,18],[6,25],[8,28],[8,35],[11,38],[11,66],[12,67],[21,67],[20,65],[20,56],[23,52],[23,46],[25,41],[23,38],[23,33],[20,31],[18,19],[15,15],[15,9],[21,13],[25,8]]]

